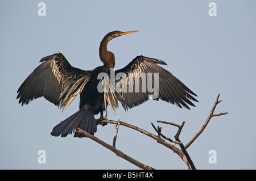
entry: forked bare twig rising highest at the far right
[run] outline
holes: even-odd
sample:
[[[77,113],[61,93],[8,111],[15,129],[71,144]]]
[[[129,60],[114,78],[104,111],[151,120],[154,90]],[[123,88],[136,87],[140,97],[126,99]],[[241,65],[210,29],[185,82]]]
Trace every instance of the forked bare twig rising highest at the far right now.
[[[220,97],[220,94],[218,94],[217,96],[217,99],[215,100],[214,104],[213,104],[213,107],[212,107],[212,110],[210,111],[210,114],[207,118],[207,120],[205,121],[203,127],[199,130],[199,132],[196,133],[196,135],[187,143],[187,145],[185,145],[185,149],[187,149],[191,144],[192,142],[194,142],[196,140],[197,137],[199,137],[199,135],[204,131],[205,127],[207,127],[207,124],[209,123],[210,119],[213,117],[213,116],[221,116],[221,115],[226,115],[228,112],[224,112],[224,113],[218,113],[218,114],[213,114],[216,106],[218,103],[221,102],[221,100],[219,101],[218,98]]]

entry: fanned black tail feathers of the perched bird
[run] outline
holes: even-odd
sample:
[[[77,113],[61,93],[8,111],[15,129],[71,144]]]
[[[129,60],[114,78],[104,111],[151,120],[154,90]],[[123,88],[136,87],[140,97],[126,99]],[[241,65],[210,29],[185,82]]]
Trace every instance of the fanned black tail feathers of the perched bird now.
[[[84,131],[94,134],[97,131],[96,120],[91,111],[80,110],[68,117],[60,124],[52,129],[52,136],[66,137],[76,131],[76,128],[83,129]],[[74,137],[85,137],[84,134],[75,132]]]

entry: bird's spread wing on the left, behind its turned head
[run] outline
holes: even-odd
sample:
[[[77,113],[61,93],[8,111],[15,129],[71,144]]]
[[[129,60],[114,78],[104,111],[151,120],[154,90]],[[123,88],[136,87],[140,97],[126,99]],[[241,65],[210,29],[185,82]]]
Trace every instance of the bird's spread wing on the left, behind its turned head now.
[[[44,97],[63,110],[84,88],[91,72],[73,68],[61,53],[42,58],[39,65],[22,83],[17,93],[19,103]]]

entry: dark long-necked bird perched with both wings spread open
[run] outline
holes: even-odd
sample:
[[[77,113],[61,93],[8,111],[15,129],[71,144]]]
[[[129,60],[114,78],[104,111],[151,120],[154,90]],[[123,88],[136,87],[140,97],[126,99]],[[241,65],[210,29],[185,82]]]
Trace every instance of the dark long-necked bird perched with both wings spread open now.
[[[195,107],[191,100],[198,102],[194,98],[197,95],[164,69],[162,65],[167,64],[162,60],[141,55],[124,68],[114,70],[115,56],[107,49],[109,41],[134,32],[138,31],[112,31],[105,35],[99,48],[103,65],[93,70],[74,68],[60,52],[43,57],[42,64],[19,87],[16,99],[24,106],[43,96],[65,110],[80,94],[79,111],[61,121],[51,132],[52,136],[61,137],[75,133],[74,137],[79,138],[85,136],[76,132],[77,128],[93,135],[97,131],[97,120],[104,120],[108,106],[115,112],[118,102],[125,111],[149,99],[160,99],[189,110],[188,104]],[[96,120],[94,116],[98,113],[100,118]]]

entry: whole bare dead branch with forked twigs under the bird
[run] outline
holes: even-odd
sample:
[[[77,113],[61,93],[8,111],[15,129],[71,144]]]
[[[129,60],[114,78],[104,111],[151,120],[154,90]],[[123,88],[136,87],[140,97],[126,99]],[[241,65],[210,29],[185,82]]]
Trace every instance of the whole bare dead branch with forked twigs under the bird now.
[[[199,135],[204,131],[205,127],[207,127],[207,124],[209,123],[210,119],[214,116],[221,116],[221,115],[226,115],[228,112],[224,112],[224,113],[218,113],[218,114],[214,114],[214,110],[217,106],[218,103],[221,102],[221,100],[218,100],[220,94],[218,94],[217,96],[217,99],[216,101],[214,102],[214,105],[212,107],[212,110],[210,111],[210,114],[207,118],[207,120],[205,121],[203,127],[200,129],[199,132],[196,133],[196,135],[191,139],[191,141],[188,142],[187,145],[183,145],[183,143],[180,141],[179,139],[179,136],[180,136],[180,133],[181,133],[181,130],[185,124],[185,121],[183,121],[183,123],[181,125],[177,125],[175,123],[170,123],[170,122],[167,122],[167,121],[157,121],[158,123],[164,123],[164,124],[170,124],[170,125],[174,125],[175,127],[178,128],[178,131],[175,135],[175,140],[172,140],[171,138],[168,138],[166,136],[164,136],[164,134],[162,134],[162,128],[158,126],[158,128],[156,129],[156,127],[154,126],[154,124],[152,124],[152,127],[155,129],[156,133],[158,133],[158,136],[156,136],[155,134],[152,134],[150,132],[147,132],[147,131],[144,131],[143,129],[141,128],[138,128],[134,125],[131,125],[131,124],[128,124],[128,123],[125,123],[123,121],[114,121],[114,120],[108,120],[108,119],[104,119],[102,121],[100,121],[99,124],[102,124],[102,125],[106,125],[108,123],[110,124],[116,124],[117,125],[117,130],[115,131],[115,136],[113,138],[113,146],[109,145],[109,144],[106,144],[106,142],[100,140],[99,138],[93,136],[92,134],[89,134],[85,131],[83,131],[82,129],[80,128],[77,128],[77,132],[79,133],[82,133],[82,134],[85,134],[86,137],[98,142],[99,144],[105,146],[106,148],[108,148],[109,150],[113,151],[115,154],[117,154],[119,157],[122,157],[123,159],[126,159],[127,161],[133,163],[134,165],[138,166],[139,168],[142,168],[142,169],[153,169],[152,167],[150,166],[147,166],[147,165],[144,165],[143,163],[129,157],[128,155],[124,154],[122,151],[118,150],[115,148],[115,141],[117,139],[117,133],[118,133],[118,128],[119,128],[119,125],[123,125],[125,127],[128,127],[128,128],[131,128],[131,129],[134,129],[138,132],[141,132],[151,138],[153,138],[154,140],[156,140],[157,142],[159,142],[160,144],[162,144],[163,146],[166,146],[167,148],[171,149],[172,151],[174,151],[174,153],[176,153],[177,155],[179,155],[179,157],[181,159],[183,159],[183,161],[186,163],[186,165],[188,166],[189,169],[196,169],[195,165],[193,164],[192,162],[192,159],[189,157],[189,154],[187,152],[187,148],[193,143],[193,141],[196,140],[197,137],[199,137]],[[180,149],[176,148],[176,146],[172,145],[172,144],[169,144],[168,142],[166,142],[164,139],[170,141],[170,142],[173,142],[175,144],[178,144],[180,146]]]

